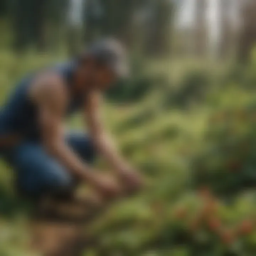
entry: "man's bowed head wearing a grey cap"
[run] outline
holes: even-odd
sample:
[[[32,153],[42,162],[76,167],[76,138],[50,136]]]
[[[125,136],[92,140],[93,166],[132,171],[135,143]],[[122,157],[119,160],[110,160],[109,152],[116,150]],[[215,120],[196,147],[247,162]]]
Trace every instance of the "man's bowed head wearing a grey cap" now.
[[[104,39],[79,55],[76,82],[104,90],[128,73],[126,49],[116,39]]]

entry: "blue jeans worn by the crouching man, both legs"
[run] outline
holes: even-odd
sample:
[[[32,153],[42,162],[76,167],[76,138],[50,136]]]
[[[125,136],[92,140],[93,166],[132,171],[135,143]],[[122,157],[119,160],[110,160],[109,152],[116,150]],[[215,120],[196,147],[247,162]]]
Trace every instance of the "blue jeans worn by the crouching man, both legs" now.
[[[92,163],[95,150],[86,135],[70,134],[66,142],[80,158]],[[39,142],[23,142],[2,155],[13,167],[18,187],[28,195],[65,191],[76,183],[71,172],[48,155]]]

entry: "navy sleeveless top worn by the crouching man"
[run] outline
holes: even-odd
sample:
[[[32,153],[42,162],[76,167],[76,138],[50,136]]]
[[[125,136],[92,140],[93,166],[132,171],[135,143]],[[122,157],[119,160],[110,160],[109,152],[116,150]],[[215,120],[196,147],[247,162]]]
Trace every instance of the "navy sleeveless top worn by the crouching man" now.
[[[69,62],[59,64],[46,70],[55,70],[66,81],[67,86],[71,86],[75,63]],[[41,70],[42,71],[42,70]],[[40,71],[39,71],[40,72]],[[37,107],[28,96],[28,91],[35,75],[34,72],[23,78],[16,86],[9,100],[0,110],[0,137],[5,134],[17,134],[26,139],[39,140],[40,128],[38,126]],[[81,97],[73,97],[70,101],[68,113],[78,110],[82,105]]]

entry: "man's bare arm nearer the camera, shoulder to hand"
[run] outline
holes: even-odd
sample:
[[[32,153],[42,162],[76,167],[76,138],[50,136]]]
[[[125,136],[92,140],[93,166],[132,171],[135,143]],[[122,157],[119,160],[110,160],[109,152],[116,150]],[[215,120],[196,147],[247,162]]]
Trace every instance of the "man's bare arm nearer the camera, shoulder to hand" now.
[[[42,75],[34,82],[30,96],[38,106],[43,145],[49,154],[59,159],[74,176],[89,182],[102,196],[116,196],[117,183],[92,171],[65,143],[62,123],[68,95],[62,79],[56,74]]]

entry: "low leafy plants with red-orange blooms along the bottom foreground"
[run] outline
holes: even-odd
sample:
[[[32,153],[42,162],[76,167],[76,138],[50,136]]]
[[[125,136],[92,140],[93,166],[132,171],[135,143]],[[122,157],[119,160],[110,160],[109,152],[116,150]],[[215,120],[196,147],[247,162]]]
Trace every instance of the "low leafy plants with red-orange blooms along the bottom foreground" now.
[[[184,255],[242,255],[255,250],[253,198],[244,195],[230,208],[202,188],[171,205],[162,200],[122,205],[97,223],[94,238],[106,255],[166,255],[175,248]]]

